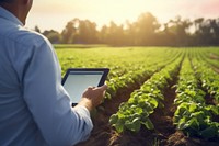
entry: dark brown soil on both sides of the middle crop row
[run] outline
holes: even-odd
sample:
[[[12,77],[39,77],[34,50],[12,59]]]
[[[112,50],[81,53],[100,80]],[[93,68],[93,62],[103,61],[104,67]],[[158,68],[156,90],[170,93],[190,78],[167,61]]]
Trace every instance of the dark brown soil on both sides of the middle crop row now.
[[[143,126],[140,132],[124,132],[122,134],[110,125],[110,116],[117,112],[122,102],[130,98],[130,93],[138,89],[139,85],[129,86],[128,89],[119,90],[115,98],[106,100],[102,106],[99,106],[97,113],[93,116],[94,128],[88,141],[77,146],[219,146],[219,139],[201,139],[199,137],[187,137],[183,132],[176,131],[173,125],[173,115],[176,106],[173,104],[175,94],[175,85],[177,78],[170,82],[164,90],[164,109],[157,109],[150,115],[154,130],[149,131]]]

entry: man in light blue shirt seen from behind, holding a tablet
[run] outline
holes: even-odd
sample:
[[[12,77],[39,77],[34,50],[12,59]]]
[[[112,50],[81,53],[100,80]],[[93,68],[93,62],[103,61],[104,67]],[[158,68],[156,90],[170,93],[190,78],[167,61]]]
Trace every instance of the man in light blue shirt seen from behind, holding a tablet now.
[[[88,138],[89,111],[106,86],[88,88],[70,106],[53,46],[23,26],[32,2],[0,0],[0,145],[74,145]]]

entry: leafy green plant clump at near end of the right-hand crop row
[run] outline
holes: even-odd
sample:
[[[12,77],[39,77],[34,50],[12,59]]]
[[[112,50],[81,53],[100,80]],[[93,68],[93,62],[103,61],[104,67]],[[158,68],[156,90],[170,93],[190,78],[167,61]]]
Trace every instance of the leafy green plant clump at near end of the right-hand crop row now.
[[[219,123],[212,121],[211,108],[201,103],[184,102],[177,106],[174,124],[188,136],[218,137]]]

